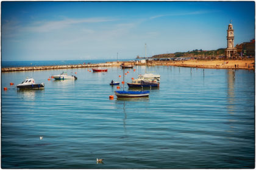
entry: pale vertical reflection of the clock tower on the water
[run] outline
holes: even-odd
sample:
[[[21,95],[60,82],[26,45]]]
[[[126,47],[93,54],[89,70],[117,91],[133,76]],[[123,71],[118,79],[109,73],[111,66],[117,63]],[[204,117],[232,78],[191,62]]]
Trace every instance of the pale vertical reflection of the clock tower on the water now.
[[[227,70],[227,110],[229,114],[234,114],[234,104],[235,104],[235,70]]]

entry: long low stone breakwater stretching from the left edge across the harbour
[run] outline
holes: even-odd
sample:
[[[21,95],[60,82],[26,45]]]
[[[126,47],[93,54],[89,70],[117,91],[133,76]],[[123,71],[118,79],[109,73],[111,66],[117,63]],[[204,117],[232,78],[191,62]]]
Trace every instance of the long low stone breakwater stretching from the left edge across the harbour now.
[[[9,68],[2,68],[1,70],[2,72],[16,72],[16,71],[28,71],[28,70],[74,69],[74,68],[84,68],[84,67],[110,67],[110,66],[116,66],[116,64],[101,63],[101,64],[78,64],[78,65],[63,65],[63,66],[9,67]]]

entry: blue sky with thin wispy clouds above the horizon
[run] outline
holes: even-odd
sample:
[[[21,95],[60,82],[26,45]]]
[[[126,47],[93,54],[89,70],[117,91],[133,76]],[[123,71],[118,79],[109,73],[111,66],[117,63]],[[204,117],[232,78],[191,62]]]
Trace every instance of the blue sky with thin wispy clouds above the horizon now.
[[[2,2],[2,61],[101,60],[226,48],[255,36],[254,1]]]

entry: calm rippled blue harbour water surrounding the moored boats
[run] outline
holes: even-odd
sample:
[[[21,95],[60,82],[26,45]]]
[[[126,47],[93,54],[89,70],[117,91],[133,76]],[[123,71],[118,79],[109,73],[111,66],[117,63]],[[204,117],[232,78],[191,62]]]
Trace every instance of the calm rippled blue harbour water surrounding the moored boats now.
[[[255,168],[253,70],[135,66],[126,82],[153,72],[159,89],[110,100],[123,70],[88,69],[1,73],[2,168]],[[77,80],[48,81],[63,71]],[[26,77],[45,88],[17,90]]]

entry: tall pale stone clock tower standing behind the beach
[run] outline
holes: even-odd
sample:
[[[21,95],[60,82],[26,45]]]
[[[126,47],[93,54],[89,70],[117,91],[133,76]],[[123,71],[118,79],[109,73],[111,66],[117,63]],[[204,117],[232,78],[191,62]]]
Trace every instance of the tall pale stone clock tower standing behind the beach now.
[[[236,47],[234,47],[234,30],[233,30],[233,25],[229,24],[227,28],[227,49],[225,50],[225,56],[227,58],[232,58],[235,56],[236,53]]]

